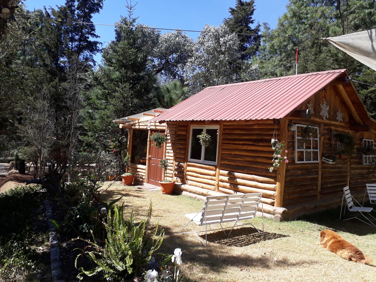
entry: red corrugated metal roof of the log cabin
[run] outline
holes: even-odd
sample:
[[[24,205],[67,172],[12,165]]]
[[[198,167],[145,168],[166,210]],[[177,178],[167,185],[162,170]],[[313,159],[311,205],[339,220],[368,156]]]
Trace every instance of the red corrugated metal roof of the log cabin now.
[[[283,118],[346,69],[210,86],[153,121],[266,120]]]

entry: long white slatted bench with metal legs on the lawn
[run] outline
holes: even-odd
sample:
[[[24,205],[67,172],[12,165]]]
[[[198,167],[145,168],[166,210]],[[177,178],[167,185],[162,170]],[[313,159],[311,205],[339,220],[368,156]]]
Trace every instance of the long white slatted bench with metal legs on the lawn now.
[[[256,212],[259,204],[261,203],[262,212],[262,233],[264,233],[264,209],[261,202],[262,193],[247,193],[247,194],[235,194],[224,196],[206,196],[204,206],[202,209],[194,214],[185,214],[190,220],[188,221],[178,233],[195,233],[201,243],[205,246],[208,244],[207,234],[208,226],[209,230],[223,230],[226,236],[229,236],[235,226],[252,225],[258,232],[258,230],[252,223],[238,224],[240,220],[253,219],[256,216]],[[189,223],[196,223],[199,226],[205,225],[205,243],[201,240],[197,233],[202,231],[188,231],[182,232],[182,230]],[[234,222],[232,227],[223,228],[222,223]],[[214,224],[213,228],[211,225]],[[219,224],[221,228],[214,229],[215,224]],[[231,228],[230,232],[226,234],[224,229]]]

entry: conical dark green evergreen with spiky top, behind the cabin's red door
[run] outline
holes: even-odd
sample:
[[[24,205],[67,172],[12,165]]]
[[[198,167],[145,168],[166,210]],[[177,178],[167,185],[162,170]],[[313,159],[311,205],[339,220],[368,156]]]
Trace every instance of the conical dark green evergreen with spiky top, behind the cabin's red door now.
[[[149,56],[140,44],[135,19],[122,18],[116,39],[102,53],[102,65],[93,75],[94,89],[86,97],[86,144],[103,149],[118,129],[112,122],[152,108],[156,77],[148,68]],[[104,138],[105,137],[105,138]]]

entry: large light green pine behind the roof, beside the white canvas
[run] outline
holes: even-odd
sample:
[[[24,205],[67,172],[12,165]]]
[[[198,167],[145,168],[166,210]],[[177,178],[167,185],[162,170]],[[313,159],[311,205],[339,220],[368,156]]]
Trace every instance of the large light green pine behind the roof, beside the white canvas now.
[[[298,73],[347,68],[353,79],[374,85],[374,71],[320,38],[373,29],[375,8],[373,0],[290,0],[276,29],[264,26],[264,35],[284,37],[264,37],[259,55],[252,61],[258,63],[263,77],[293,75],[299,49]],[[355,86],[374,115],[375,88]]]

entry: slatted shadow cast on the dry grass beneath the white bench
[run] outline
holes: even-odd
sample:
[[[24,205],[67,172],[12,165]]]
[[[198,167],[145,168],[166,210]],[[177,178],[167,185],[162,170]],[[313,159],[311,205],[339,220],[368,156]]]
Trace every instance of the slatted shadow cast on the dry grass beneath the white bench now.
[[[229,230],[226,230],[226,234]],[[205,232],[200,233],[199,237],[201,240],[205,241]],[[208,233],[208,244],[215,243],[220,245],[232,246],[232,247],[245,247],[252,244],[260,243],[262,241],[274,240],[277,238],[289,237],[283,234],[264,232],[257,232],[256,229],[252,227],[237,227],[232,230],[230,235],[227,237],[224,235],[222,230],[216,232]]]

